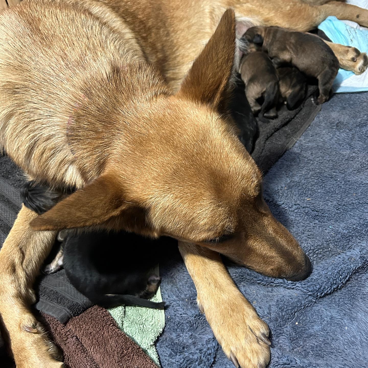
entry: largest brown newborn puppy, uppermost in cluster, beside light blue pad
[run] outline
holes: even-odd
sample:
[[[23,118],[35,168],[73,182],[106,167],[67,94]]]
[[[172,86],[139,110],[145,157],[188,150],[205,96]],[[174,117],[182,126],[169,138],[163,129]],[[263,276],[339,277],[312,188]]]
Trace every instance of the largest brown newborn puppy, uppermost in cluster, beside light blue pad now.
[[[251,27],[243,37],[262,45],[262,50],[268,52],[275,67],[292,64],[309,77],[317,78],[319,96],[316,103],[329,99],[339,61],[322,39],[276,26]]]

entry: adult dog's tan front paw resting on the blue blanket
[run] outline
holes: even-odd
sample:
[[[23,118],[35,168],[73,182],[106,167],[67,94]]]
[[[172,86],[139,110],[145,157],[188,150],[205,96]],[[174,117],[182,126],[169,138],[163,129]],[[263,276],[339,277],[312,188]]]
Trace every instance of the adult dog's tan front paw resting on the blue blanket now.
[[[236,367],[264,368],[270,360],[269,328],[237,291],[231,298],[198,300],[226,356]]]

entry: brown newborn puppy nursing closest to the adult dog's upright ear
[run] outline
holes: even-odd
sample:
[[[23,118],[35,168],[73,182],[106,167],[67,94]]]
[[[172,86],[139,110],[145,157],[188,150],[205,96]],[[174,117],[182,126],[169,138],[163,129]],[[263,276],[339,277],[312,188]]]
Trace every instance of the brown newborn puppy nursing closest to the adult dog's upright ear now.
[[[258,118],[263,122],[268,122],[265,117],[277,117],[279,81],[268,55],[256,48],[248,49],[248,53],[240,61],[239,72],[245,84],[245,95],[252,112],[259,113]],[[263,98],[262,106],[257,101],[261,98]]]

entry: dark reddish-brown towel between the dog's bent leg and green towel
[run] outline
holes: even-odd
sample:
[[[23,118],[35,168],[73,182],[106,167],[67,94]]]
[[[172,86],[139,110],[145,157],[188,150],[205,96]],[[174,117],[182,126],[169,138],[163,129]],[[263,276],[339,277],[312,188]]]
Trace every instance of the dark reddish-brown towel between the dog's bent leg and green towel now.
[[[46,328],[64,353],[70,368],[157,368],[110,313],[93,306],[66,324],[42,313]]]

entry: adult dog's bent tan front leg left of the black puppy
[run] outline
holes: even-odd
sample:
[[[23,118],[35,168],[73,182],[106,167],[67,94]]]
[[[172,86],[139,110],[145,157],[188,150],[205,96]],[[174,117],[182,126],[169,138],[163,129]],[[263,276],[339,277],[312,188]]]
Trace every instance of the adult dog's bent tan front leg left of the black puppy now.
[[[33,281],[56,237],[29,227],[36,216],[23,206],[0,251],[0,314],[17,368],[56,368],[62,363],[28,308],[35,302]]]

